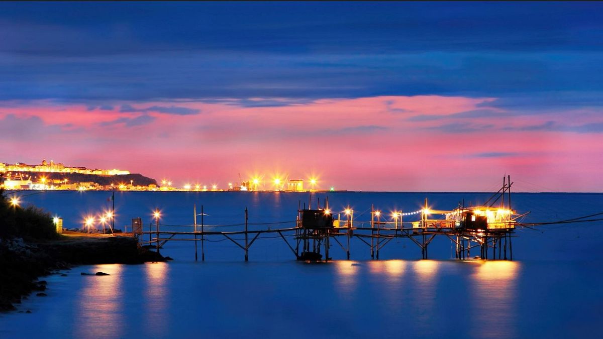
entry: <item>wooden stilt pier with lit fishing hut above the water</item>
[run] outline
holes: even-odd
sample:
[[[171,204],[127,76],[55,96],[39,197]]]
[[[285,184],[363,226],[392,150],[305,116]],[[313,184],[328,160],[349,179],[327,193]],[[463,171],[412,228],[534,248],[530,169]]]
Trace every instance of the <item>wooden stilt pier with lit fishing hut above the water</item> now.
[[[508,181],[507,181],[508,179]],[[153,246],[157,252],[168,241],[194,241],[195,260],[198,259],[198,242],[201,242],[201,261],[205,260],[204,242],[209,237],[221,237],[236,244],[244,252],[245,261],[248,261],[248,252],[251,246],[261,235],[277,233],[285,241],[291,253],[298,260],[329,261],[330,248],[336,243],[350,259],[350,240],[355,238],[370,249],[370,258],[379,259],[379,252],[393,239],[405,238],[413,242],[421,250],[421,259],[429,258],[429,244],[436,236],[445,236],[452,241],[455,247],[456,259],[504,259],[513,260],[514,231],[516,220],[526,214],[517,215],[511,209],[511,181],[510,177],[503,180],[503,186],[482,206],[466,207],[464,202],[450,211],[430,209],[425,200],[423,209],[414,212],[394,212],[394,221],[384,221],[380,211],[371,206],[371,220],[358,221],[353,218],[350,208],[335,214],[329,209],[328,199],[324,206],[317,201],[315,209],[310,206],[298,206],[297,218],[294,221],[281,221],[277,223],[253,223],[253,226],[266,225],[267,229],[249,230],[248,211],[245,209],[245,222],[238,224],[244,230],[218,231],[206,230],[204,224],[203,206],[201,214],[197,214],[194,207],[194,224],[177,225],[191,227],[191,231],[161,230],[159,211],[155,212],[155,229],[149,231],[139,227],[134,230],[139,236],[140,246]],[[311,201],[309,201],[309,205]],[[494,206],[496,204],[496,206]],[[341,214],[346,218],[341,219]],[[201,216],[201,224],[197,224],[197,217]],[[420,220],[403,222],[406,215],[420,215]],[[440,218],[433,218],[435,215]],[[137,218],[139,220],[139,218]],[[139,223],[139,221],[137,221]],[[271,228],[270,226],[294,223],[294,227]],[[134,223],[133,223],[134,224]],[[172,225],[173,226],[173,225]],[[232,225],[231,225],[232,226]],[[152,227],[152,225],[150,225]],[[147,238],[148,241],[144,239]],[[237,239],[236,236],[244,236]],[[287,237],[291,238],[289,241]],[[473,255],[473,257],[472,257]]]

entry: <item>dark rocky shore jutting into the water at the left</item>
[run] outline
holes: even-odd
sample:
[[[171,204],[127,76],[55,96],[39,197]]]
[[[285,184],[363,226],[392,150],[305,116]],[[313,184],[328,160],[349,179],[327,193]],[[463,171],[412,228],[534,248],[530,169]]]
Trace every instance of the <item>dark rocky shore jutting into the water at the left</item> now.
[[[165,261],[148,249],[139,249],[131,236],[66,234],[57,240],[29,241],[21,238],[0,242],[0,311],[36,291],[43,296],[45,280],[39,277],[68,270],[75,265],[142,264]]]

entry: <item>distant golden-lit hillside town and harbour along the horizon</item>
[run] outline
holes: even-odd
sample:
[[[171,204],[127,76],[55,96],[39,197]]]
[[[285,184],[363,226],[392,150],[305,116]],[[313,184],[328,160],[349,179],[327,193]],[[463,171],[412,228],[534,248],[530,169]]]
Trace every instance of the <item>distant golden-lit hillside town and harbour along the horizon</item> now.
[[[288,177],[252,177],[239,182],[229,182],[220,186],[216,183],[203,185],[185,183],[172,185],[171,180],[157,182],[142,174],[133,174],[124,170],[101,170],[98,168],[71,167],[63,163],[42,160],[40,165],[14,164],[0,162],[0,188],[6,190],[62,190],[62,191],[285,191],[315,192],[324,191],[318,186],[317,178],[289,179]],[[327,189],[335,191],[334,187]]]

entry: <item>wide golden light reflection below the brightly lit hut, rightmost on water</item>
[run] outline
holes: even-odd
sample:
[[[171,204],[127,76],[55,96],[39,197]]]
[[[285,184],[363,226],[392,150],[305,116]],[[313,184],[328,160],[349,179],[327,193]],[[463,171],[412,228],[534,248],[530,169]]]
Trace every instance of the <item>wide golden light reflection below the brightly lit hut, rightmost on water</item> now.
[[[516,261],[484,261],[472,274],[474,333],[481,338],[514,337],[516,332]]]

